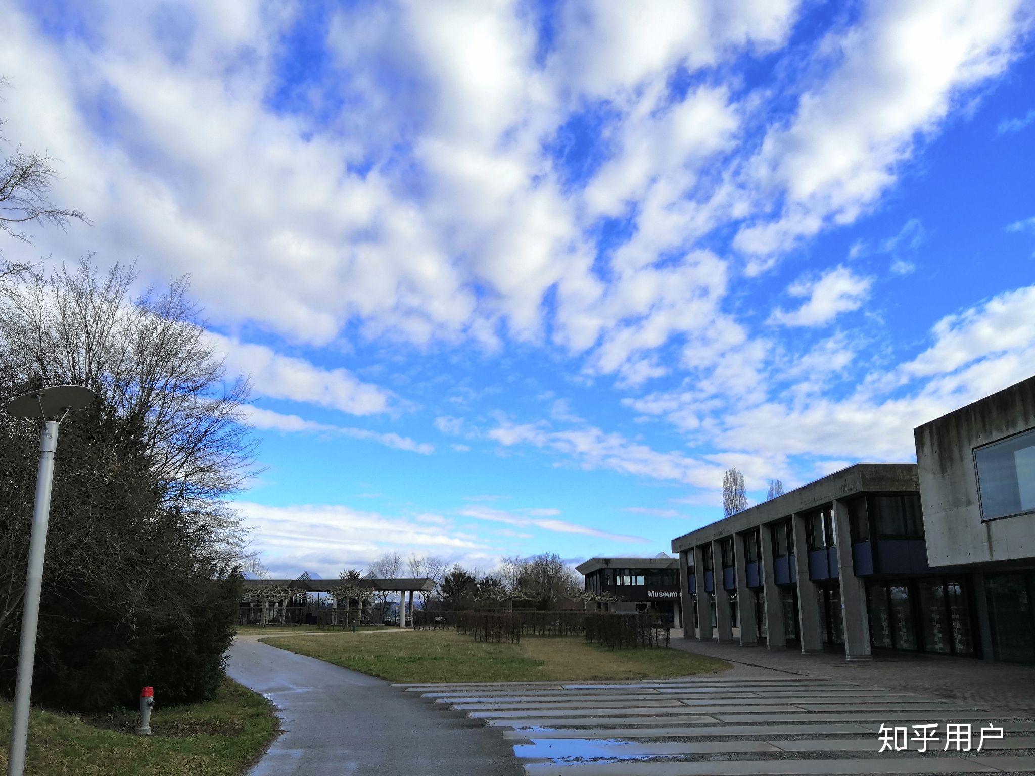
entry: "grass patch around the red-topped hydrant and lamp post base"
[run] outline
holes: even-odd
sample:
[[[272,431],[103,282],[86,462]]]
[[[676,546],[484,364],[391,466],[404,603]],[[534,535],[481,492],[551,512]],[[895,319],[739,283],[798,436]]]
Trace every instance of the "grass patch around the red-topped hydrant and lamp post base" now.
[[[237,776],[278,729],[269,702],[225,679],[215,699],[162,708],[151,735],[140,715],[58,714],[33,709],[26,773],[32,776]],[[0,700],[0,766],[7,768],[10,702]]]

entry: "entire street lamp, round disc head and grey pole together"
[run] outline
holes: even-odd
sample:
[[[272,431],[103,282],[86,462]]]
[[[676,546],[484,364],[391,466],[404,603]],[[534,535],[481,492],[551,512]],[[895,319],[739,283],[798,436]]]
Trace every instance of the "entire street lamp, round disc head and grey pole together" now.
[[[43,421],[36,470],[36,498],[32,509],[29,538],[29,568],[22,603],[22,640],[18,650],[18,678],[14,681],[14,710],[10,721],[10,749],[7,776],[25,773],[25,743],[29,733],[29,704],[32,699],[32,668],[36,659],[36,625],[39,620],[39,592],[43,584],[47,553],[47,523],[51,514],[51,483],[54,453],[58,448],[58,427],[69,410],[87,407],[96,394],[79,385],[55,385],[24,393],[7,402],[7,412],[20,418]]]

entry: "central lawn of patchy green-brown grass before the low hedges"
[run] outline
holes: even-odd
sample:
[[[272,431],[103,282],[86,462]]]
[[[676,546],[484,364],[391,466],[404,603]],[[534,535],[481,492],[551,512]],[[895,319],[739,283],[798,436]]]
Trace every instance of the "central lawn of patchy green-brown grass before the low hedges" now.
[[[730,667],[724,660],[680,650],[609,650],[581,636],[484,644],[450,630],[425,630],[368,637],[348,632],[286,636],[269,644],[393,682],[661,679]]]

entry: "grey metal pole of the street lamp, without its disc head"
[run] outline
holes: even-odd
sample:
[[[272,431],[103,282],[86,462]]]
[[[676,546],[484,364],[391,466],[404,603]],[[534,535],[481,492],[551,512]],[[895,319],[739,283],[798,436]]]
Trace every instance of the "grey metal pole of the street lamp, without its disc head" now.
[[[32,667],[36,659],[36,624],[39,620],[39,591],[43,584],[43,555],[47,551],[47,524],[51,514],[51,483],[54,479],[58,425],[59,421],[48,420],[39,441],[39,468],[36,470],[36,499],[32,510],[32,534],[29,538],[29,570],[22,602],[22,640],[18,651],[18,679],[14,683],[7,776],[23,776],[25,773],[25,742],[29,733]]]

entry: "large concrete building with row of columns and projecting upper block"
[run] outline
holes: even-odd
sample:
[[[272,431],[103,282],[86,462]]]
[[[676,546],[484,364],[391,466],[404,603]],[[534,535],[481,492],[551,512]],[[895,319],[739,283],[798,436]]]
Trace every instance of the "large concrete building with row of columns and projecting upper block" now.
[[[688,638],[1035,662],[1035,378],[673,540]]]

